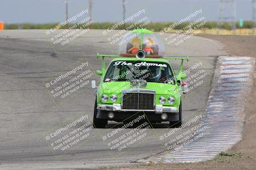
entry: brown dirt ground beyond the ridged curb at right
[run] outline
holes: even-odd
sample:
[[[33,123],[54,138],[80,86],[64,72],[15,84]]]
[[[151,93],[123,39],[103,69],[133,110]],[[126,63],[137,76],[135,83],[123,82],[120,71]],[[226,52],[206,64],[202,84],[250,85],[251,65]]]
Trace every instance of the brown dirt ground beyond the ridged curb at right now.
[[[200,35],[220,41],[230,55],[256,57],[256,36]],[[243,139],[216,159],[195,164],[149,164],[121,169],[255,169],[256,167],[256,83],[252,96],[246,97]]]

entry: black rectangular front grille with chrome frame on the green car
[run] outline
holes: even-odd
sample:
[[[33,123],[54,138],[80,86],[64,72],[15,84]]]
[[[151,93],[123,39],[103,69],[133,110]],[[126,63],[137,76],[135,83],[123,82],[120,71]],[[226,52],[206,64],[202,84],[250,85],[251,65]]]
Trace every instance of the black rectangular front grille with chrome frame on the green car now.
[[[122,108],[125,110],[154,110],[154,93],[124,93]]]

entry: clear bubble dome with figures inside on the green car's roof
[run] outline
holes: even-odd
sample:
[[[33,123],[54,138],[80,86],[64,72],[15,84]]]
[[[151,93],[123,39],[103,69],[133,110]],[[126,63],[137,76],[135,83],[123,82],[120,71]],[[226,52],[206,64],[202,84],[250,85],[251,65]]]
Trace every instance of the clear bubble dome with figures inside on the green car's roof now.
[[[164,45],[161,38],[147,29],[135,29],[125,34],[119,43],[119,55],[135,57],[138,50],[143,50],[146,57],[161,58],[164,56]]]

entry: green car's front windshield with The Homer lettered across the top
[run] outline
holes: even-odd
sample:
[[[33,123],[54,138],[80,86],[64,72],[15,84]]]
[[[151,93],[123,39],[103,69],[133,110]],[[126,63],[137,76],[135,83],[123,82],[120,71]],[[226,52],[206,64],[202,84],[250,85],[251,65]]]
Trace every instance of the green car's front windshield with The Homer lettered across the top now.
[[[143,80],[147,82],[175,83],[173,71],[166,62],[125,61],[111,62],[104,82]]]

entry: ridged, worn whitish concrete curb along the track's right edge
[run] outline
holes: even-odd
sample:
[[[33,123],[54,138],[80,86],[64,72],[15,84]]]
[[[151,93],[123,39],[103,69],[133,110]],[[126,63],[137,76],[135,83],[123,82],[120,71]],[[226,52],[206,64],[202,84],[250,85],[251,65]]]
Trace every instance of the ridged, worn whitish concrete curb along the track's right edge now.
[[[255,60],[251,57],[218,58],[203,122],[204,136],[179,150],[150,157],[152,162],[200,162],[216,157],[241,140],[244,97],[250,94]]]

